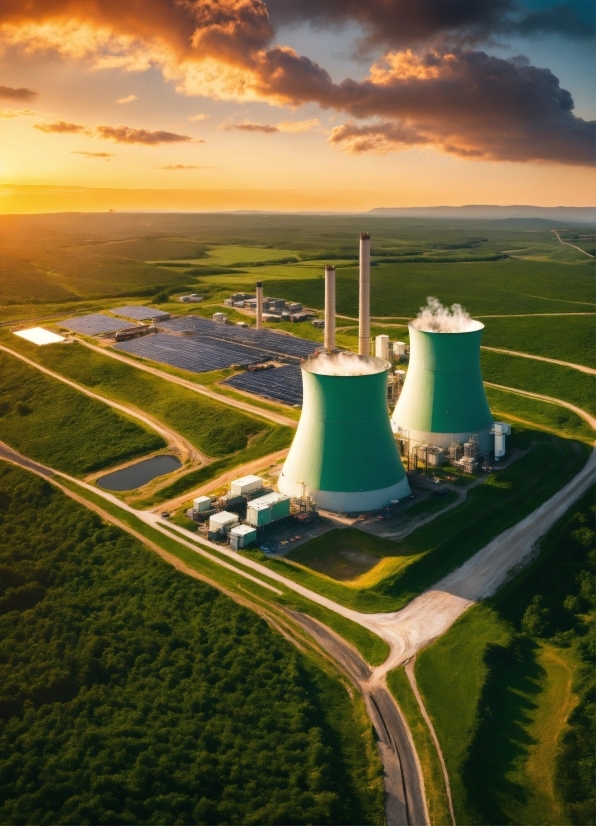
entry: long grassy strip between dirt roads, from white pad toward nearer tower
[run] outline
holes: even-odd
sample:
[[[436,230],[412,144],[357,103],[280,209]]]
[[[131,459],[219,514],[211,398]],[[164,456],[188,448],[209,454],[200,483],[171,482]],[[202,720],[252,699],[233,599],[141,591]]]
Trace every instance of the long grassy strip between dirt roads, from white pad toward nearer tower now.
[[[239,410],[76,343],[36,347],[13,338],[15,350],[97,393],[151,413],[208,456],[243,450],[252,438],[271,429]]]

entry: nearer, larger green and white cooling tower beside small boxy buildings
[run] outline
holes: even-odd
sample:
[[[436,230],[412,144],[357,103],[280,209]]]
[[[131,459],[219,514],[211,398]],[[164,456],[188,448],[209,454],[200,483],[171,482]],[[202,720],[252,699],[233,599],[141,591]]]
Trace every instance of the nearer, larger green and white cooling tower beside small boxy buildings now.
[[[356,513],[410,493],[387,415],[383,359],[321,355],[302,364],[302,415],[278,487]]]

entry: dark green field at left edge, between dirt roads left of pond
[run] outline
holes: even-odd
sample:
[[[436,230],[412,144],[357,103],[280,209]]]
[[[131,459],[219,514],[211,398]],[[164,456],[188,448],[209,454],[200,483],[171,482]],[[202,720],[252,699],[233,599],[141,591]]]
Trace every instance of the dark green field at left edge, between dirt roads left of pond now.
[[[2,440],[31,459],[86,475],[166,444],[102,402],[0,353]]]

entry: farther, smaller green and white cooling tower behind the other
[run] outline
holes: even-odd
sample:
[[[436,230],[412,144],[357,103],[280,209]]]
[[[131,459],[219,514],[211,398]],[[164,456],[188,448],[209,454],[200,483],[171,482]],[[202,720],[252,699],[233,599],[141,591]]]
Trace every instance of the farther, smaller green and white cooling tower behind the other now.
[[[391,426],[417,443],[448,447],[476,435],[481,452],[492,450],[493,417],[480,371],[484,324],[466,332],[428,332],[411,322],[410,364]]]

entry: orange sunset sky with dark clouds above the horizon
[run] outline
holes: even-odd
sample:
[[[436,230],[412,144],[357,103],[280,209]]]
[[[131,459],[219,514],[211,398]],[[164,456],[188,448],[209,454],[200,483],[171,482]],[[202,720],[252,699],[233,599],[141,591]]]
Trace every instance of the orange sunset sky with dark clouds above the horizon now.
[[[585,0],[2,0],[0,212],[592,206]]]

